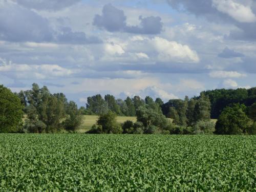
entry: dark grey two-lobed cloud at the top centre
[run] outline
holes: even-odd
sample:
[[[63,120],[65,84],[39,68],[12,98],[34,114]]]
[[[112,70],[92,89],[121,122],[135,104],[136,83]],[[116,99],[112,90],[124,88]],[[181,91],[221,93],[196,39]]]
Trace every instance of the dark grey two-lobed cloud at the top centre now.
[[[139,20],[139,26],[128,26],[123,10],[117,9],[111,4],[106,4],[102,9],[102,15],[95,15],[93,25],[110,32],[120,31],[135,34],[159,34],[162,31],[160,17],[139,16]]]

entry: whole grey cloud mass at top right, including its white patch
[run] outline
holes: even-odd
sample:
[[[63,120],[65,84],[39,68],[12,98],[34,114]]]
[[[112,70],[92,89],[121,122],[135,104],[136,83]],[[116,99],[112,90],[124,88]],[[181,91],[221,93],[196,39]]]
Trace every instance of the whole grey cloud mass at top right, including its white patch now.
[[[232,30],[226,37],[239,40],[256,40],[256,3],[242,0],[167,0],[179,11],[186,11],[208,21],[231,24]]]

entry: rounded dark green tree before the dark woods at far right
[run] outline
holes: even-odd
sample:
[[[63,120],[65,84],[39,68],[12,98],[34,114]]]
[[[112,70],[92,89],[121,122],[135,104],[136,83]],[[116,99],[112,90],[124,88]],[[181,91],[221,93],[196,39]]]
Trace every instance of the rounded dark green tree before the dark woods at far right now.
[[[244,104],[227,106],[216,123],[216,134],[237,135],[246,133],[251,120],[245,114]]]

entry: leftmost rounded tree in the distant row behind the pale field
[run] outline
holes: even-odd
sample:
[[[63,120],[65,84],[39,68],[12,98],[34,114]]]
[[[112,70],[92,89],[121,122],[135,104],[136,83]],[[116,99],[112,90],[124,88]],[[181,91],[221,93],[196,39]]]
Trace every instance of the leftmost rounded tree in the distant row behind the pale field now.
[[[108,112],[108,103],[104,101],[100,94],[87,98],[86,108],[92,114],[100,115]]]

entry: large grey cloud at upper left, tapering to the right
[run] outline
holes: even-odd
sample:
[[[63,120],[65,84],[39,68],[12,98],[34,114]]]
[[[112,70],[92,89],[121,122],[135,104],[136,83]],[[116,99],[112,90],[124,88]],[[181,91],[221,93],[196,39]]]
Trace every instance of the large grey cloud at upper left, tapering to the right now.
[[[69,27],[62,27],[56,31],[46,18],[29,9],[8,3],[0,6],[0,39],[13,42],[34,41],[66,44],[101,42],[98,37],[87,37],[84,32],[73,32]]]

